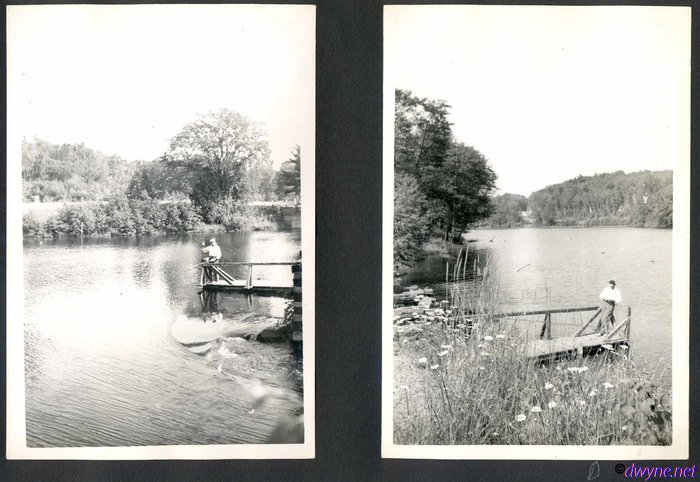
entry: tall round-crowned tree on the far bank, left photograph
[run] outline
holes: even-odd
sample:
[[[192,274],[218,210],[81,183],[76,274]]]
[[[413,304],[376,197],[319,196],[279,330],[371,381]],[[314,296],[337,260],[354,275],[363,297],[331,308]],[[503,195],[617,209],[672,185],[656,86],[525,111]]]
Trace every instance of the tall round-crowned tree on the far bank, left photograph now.
[[[221,109],[185,125],[165,159],[187,177],[196,203],[238,202],[256,191],[259,171],[270,166],[270,148],[260,124]]]

